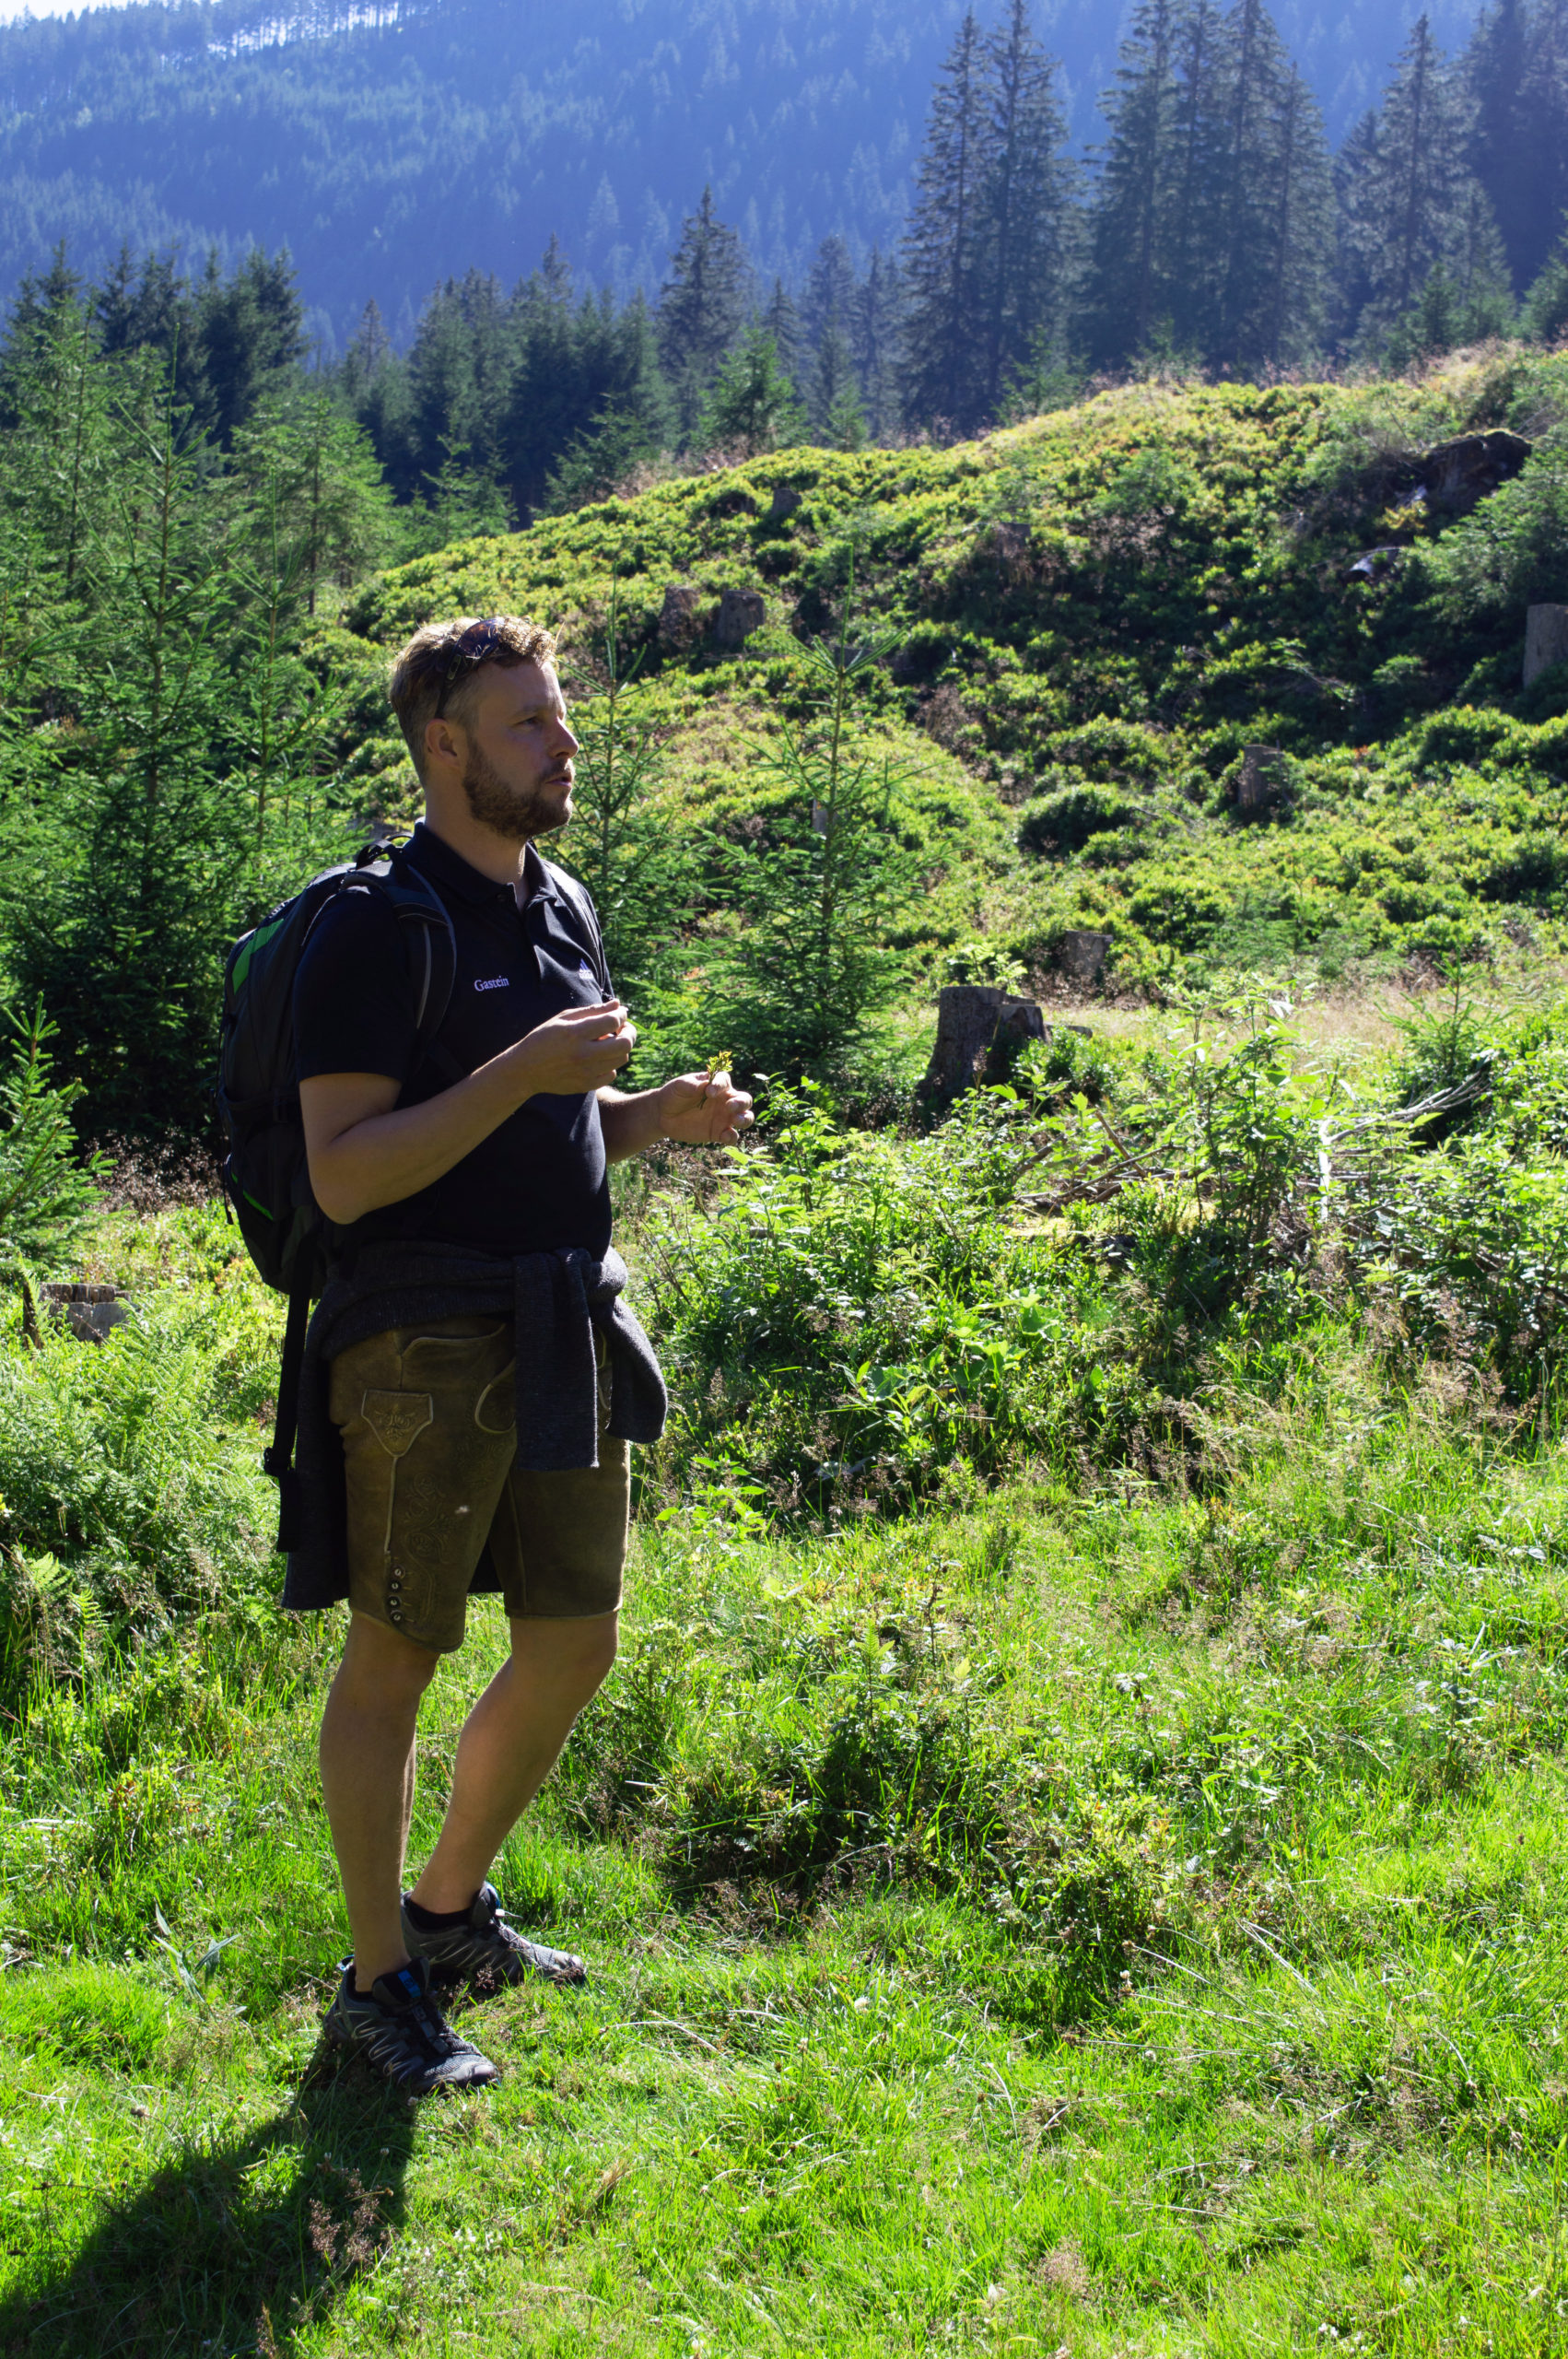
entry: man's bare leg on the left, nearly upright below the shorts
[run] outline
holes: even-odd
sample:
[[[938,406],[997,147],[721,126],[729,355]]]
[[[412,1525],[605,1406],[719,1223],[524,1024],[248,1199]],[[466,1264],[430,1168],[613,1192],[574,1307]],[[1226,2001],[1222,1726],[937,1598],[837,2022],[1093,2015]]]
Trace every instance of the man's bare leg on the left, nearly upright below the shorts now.
[[[354,1989],[408,1965],[401,1892],[413,1812],[415,1724],[436,1663],[429,1647],[363,1614],[321,1715],[321,1790],[354,1937]]]

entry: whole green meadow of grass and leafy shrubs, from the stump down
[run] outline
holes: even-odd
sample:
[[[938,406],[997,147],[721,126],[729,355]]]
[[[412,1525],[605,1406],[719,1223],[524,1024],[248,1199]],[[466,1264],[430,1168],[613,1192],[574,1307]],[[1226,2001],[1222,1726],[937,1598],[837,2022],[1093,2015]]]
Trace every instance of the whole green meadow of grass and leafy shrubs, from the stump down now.
[[[681,1413],[500,1875],[592,1979],[474,2100],[318,2055],[276,1307],[99,1217],[127,1326],[0,1345],[0,2350],[1561,2345],[1568,1026],[1087,1014],[627,1196]]]

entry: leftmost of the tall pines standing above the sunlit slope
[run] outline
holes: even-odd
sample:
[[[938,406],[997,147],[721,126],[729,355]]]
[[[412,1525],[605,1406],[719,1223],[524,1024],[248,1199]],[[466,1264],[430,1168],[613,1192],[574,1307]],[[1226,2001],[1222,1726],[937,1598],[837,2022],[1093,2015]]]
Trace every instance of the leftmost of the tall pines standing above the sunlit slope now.
[[[971,432],[986,406],[976,318],[986,259],[986,50],[974,9],[931,92],[903,241],[903,403],[910,418]]]

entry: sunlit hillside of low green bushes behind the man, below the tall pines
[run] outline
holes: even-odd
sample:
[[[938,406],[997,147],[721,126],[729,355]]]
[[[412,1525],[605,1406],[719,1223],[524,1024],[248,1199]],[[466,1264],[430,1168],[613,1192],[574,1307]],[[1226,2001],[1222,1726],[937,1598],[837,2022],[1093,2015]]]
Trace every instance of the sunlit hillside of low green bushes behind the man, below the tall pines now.
[[[363,661],[429,616],[516,606],[564,632],[589,689],[615,590],[644,705],[674,734],[672,823],[733,823],[776,793],[757,753],[854,543],[863,599],[903,639],[868,710],[917,771],[908,826],[938,880],[917,939],[979,925],[1047,970],[1063,927],[1103,925],[1137,984],[1193,955],[1339,972],[1542,918],[1549,934],[1563,686],[1516,691],[1523,611],[1436,620],[1419,554],[1443,519],[1391,517],[1389,486],[1445,434],[1561,415],[1559,377],[1504,356],[1424,387],[1127,387],[943,453],[776,453],[406,566],[328,644]],[[776,484],[802,493],[792,517]],[[1372,543],[1417,561],[1346,578]],[[684,580],[764,592],[745,656],[660,661]],[[1236,814],[1247,743],[1294,764],[1266,823]],[[368,694],[349,781],[396,807],[398,774]],[[1078,852],[1047,828],[1045,859],[1021,856],[1014,807],[1073,788],[1120,800],[1120,823]]]

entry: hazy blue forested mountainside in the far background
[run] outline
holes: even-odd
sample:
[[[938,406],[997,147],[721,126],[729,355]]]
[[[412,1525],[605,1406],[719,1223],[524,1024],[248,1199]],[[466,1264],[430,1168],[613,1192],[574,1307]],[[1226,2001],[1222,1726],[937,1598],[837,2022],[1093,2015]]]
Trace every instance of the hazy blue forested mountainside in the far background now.
[[[141,0],[0,26],[0,297],[64,238],[229,264],[288,245],[330,356],[375,297],[406,337],[434,283],[514,281],[552,236],[589,283],[655,288],[705,182],[764,276],[837,231],[898,238],[964,0]],[[995,14],[981,9],[983,17]],[[1417,14],[1368,0],[1280,35],[1342,139]],[[1429,9],[1448,45],[1474,0]],[[1122,17],[1037,9],[1075,139]]]

